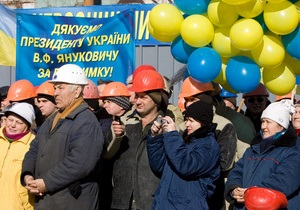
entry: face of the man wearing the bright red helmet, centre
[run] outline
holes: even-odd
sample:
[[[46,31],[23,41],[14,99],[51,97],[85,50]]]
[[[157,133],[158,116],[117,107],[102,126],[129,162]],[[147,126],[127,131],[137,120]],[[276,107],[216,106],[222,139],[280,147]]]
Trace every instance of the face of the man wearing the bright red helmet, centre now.
[[[136,110],[141,117],[147,116],[151,113],[157,114],[157,105],[146,93],[135,93]]]

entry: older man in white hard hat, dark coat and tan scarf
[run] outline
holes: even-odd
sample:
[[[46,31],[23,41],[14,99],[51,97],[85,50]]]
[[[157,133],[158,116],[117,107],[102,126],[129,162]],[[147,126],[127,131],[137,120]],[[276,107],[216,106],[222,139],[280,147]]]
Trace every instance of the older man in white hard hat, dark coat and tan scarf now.
[[[35,195],[35,209],[98,209],[97,172],[104,141],[82,97],[87,77],[79,66],[66,64],[51,82],[58,112],[32,141],[21,182]]]

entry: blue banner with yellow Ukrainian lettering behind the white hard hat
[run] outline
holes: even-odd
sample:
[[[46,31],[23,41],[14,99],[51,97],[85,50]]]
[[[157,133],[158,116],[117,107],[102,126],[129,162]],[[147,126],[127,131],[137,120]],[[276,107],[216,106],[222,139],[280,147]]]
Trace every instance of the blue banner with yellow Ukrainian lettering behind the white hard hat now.
[[[18,13],[16,80],[40,85],[76,63],[95,83],[125,83],[135,65],[134,22],[134,10],[102,19]]]

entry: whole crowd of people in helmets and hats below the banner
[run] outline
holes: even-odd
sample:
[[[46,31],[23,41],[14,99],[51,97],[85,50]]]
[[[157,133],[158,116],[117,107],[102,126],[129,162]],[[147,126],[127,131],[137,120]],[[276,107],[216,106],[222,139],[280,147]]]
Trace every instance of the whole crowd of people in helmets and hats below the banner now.
[[[0,87],[3,209],[299,209],[294,94],[272,102],[259,84],[244,111],[236,94],[187,77],[178,104],[171,95],[151,65],[126,84],[65,64],[38,87]]]

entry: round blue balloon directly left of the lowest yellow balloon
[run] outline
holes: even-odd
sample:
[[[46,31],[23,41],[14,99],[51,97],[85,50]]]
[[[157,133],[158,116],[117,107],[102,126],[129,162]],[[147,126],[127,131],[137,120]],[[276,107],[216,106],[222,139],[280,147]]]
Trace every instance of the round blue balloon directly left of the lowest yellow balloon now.
[[[239,93],[255,90],[260,82],[259,66],[246,56],[234,56],[229,59],[225,69],[229,86]]]

